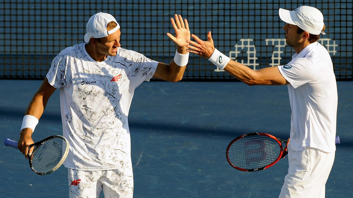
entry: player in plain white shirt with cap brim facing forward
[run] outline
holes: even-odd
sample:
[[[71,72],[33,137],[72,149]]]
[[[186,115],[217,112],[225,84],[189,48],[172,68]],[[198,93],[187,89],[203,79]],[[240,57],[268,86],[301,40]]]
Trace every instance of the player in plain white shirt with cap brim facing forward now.
[[[279,10],[286,22],[286,43],[296,52],[291,62],[253,71],[230,60],[207,41],[191,35],[189,52],[208,58],[248,85],[288,85],[291,103],[291,133],[288,174],[280,198],[325,197],[325,184],[335,158],[337,86],[329,53],[317,42],[325,34],[322,13],[310,6],[294,11]]]

